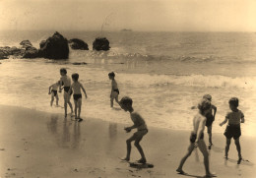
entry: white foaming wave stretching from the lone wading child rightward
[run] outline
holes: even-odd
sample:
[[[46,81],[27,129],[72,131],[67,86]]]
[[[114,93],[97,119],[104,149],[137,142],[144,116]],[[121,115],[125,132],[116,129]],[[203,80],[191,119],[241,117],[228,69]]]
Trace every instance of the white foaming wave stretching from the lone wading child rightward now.
[[[136,80],[134,80],[136,79]],[[185,86],[201,88],[237,88],[256,89],[256,77],[231,78],[221,75],[147,75],[147,74],[120,74],[120,82],[133,85],[148,86]]]

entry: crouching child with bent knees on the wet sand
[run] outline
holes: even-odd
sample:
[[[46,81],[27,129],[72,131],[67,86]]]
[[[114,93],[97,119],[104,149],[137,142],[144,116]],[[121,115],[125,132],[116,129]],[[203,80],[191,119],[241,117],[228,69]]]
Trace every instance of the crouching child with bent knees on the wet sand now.
[[[142,141],[143,137],[148,133],[147,125],[144,121],[144,119],[140,116],[139,113],[135,112],[132,107],[133,100],[130,97],[123,97],[120,101],[120,106],[124,111],[129,111],[132,121],[134,122],[134,125],[131,127],[126,127],[124,130],[129,133],[132,129],[137,128],[137,132],[134,133],[134,135],[126,141],[127,144],[127,155],[123,160],[129,161],[130,160],[130,154],[131,154],[131,142],[135,141],[134,146],[138,148],[141,159],[138,160],[140,163],[146,163],[147,159],[145,157],[144,151],[142,147],[140,146],[140,142]]]

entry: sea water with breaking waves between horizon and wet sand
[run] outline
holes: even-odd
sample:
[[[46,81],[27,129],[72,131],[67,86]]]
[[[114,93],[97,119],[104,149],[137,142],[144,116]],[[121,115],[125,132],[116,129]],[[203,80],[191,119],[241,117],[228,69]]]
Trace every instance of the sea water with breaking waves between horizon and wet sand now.
[[[54,31],[1,31],[0,46],[19,46],[30,39],[35,47]],[[223,133],[219,123],[229,111],[228,99],[239,98],[244,112],[242,134],[256,136],[256,34],[252,32],[144,32],[59,31],[68,39],[81,38],[89,51],[70,50],[68,60],[7,59],[0,64],[0,104],[63,113],[50,107],[48,88],[59,78],[79,73],[88,93],[83,95],[82,118],[99,118],[131,124],[129,114],[115,103],[110,109],[109,72],[116,73],[119,98],[130,96],[134,108],[149,127],[191,130],[190,109],[206,93],[218,108],[214,133]],[[110,41],[109,51],[93,51],[97,36]],[[87,65],[73,65],[85,62]],[[59,104],[63,106],[63,93]],[[73,103],[73,99],[71,99]],[[34,118],[36,119],[36,118]]]

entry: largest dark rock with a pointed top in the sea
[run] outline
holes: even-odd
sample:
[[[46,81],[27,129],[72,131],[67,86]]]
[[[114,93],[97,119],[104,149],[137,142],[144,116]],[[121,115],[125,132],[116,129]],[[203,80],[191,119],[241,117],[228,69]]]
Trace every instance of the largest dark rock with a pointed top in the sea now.
[[[48,59],[68,59],[68,40],[56,31],[51,37],[46,39],[45,43],[40,43],[38,54],[39,57]]]

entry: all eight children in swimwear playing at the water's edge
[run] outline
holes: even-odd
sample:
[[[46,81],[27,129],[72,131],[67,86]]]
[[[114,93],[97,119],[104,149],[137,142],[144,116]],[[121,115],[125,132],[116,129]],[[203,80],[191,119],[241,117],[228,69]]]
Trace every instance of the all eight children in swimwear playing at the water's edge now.
[[[70,102],[70,96],[74,91],[73,97],[74,97],[74,103],[75,103],[75,119],[77,119],[80,122],[83,120],[82,118],[80,118],[81,105],[82,105],[81,89],[84,91],[85,96],[87,98],[86,89],[84,89],[83,85],[78,82],[79,75],[77,73],[72,75],[72,80],[73,80],[72,85],[71,85],[70,78],[67,76],[66,69],[64,68],[60,69],[60,75],[61,75],[60,81],[58,81],[56,84],[49,87],[49,94],[51,94],[50,104],[52,105],[54,97],[56,97],[56,105],[58,105],[57,89],[59,88],[59,92],[61,92],[61,90],[64,89],[64,101],[65,101],[64,108],[65,108],[65,117],[67,117],[67,104],[69,104],[71,108],[71,113],[73,113],[73,107]],[[109,80],[111,80],[110,106],[113,107],[113,100],[115,99],[116,102],[120,105],[120,107],[124,111],[130,112],[130,117],[134,124],[131,127],[124,128],[124,130],[127,133],[131,132],[132,129],[137,129],[137,132],[135,132],[133,136],[126,141],[127,154],[126,154],[126,157],[123,158],[123,160],[125,161],[130,160],[131,143],[134,141],[135,142],[134,146],[138,148],[141,154],[141,159],[139,159],[138,162],[146,163],[147,162],[146,156],[144,154],[143,148],[140,146],[140,142],[142,141],[143,137],[149,132],[146,122],[138,112],[134,111],[134,108],[132,106],[133,104],[132,98],[125,96],[120,101],[118,100],[119,89],[114,79],[115,74],[111,72],[108,74],[108,77],[109,77]],[[62,88],[62,86],[64,87]],[[212,125],[213,125],[213,122],[215,121],[215,116],[217,112],[217,107],[213,105],[211,102],[212,102],[212,96],[210,94],[205,94],[203,96],[203,99],[199,102],[197,106],[199,112],[193,118],[193,131],[190,135],[190,145],[188,147],[188,151],[186,152],[184,157],[182,157],[182,159],[180,160],[180,164],[176,169],[178,173],[184,174],[182,167],[186,159],[190,156],[193,149],[198,147],[204,156],[206,176],[207,177],[214,176],[210,172],[209,153],[207,150],[207,146],[204,142],[204,130],[206,126],[207,133],[209,135],[208,148],[211,149],[213,145]],[[224,136],[226,138],[224,157],[227,159],[230,140],[231,138],[233,138],[236,149],[238,151],[237,164],[239,164],[242,160],[241,148],[239,144],[239,137],[241,136],[240,123],[244,123],[244,115],[242,111],[240,111],[237,108],[239,105],[239,101],[237,97],[231,97],[228,103],[231,111],[226,114],[224,122],[220,123],[220,126],[223,126],[226,122],[228,122],[226,129],[224,131]],[[195,108],[195,106],[192,108]],[[78,109],[78,113],[77,113],[77,109]]]

